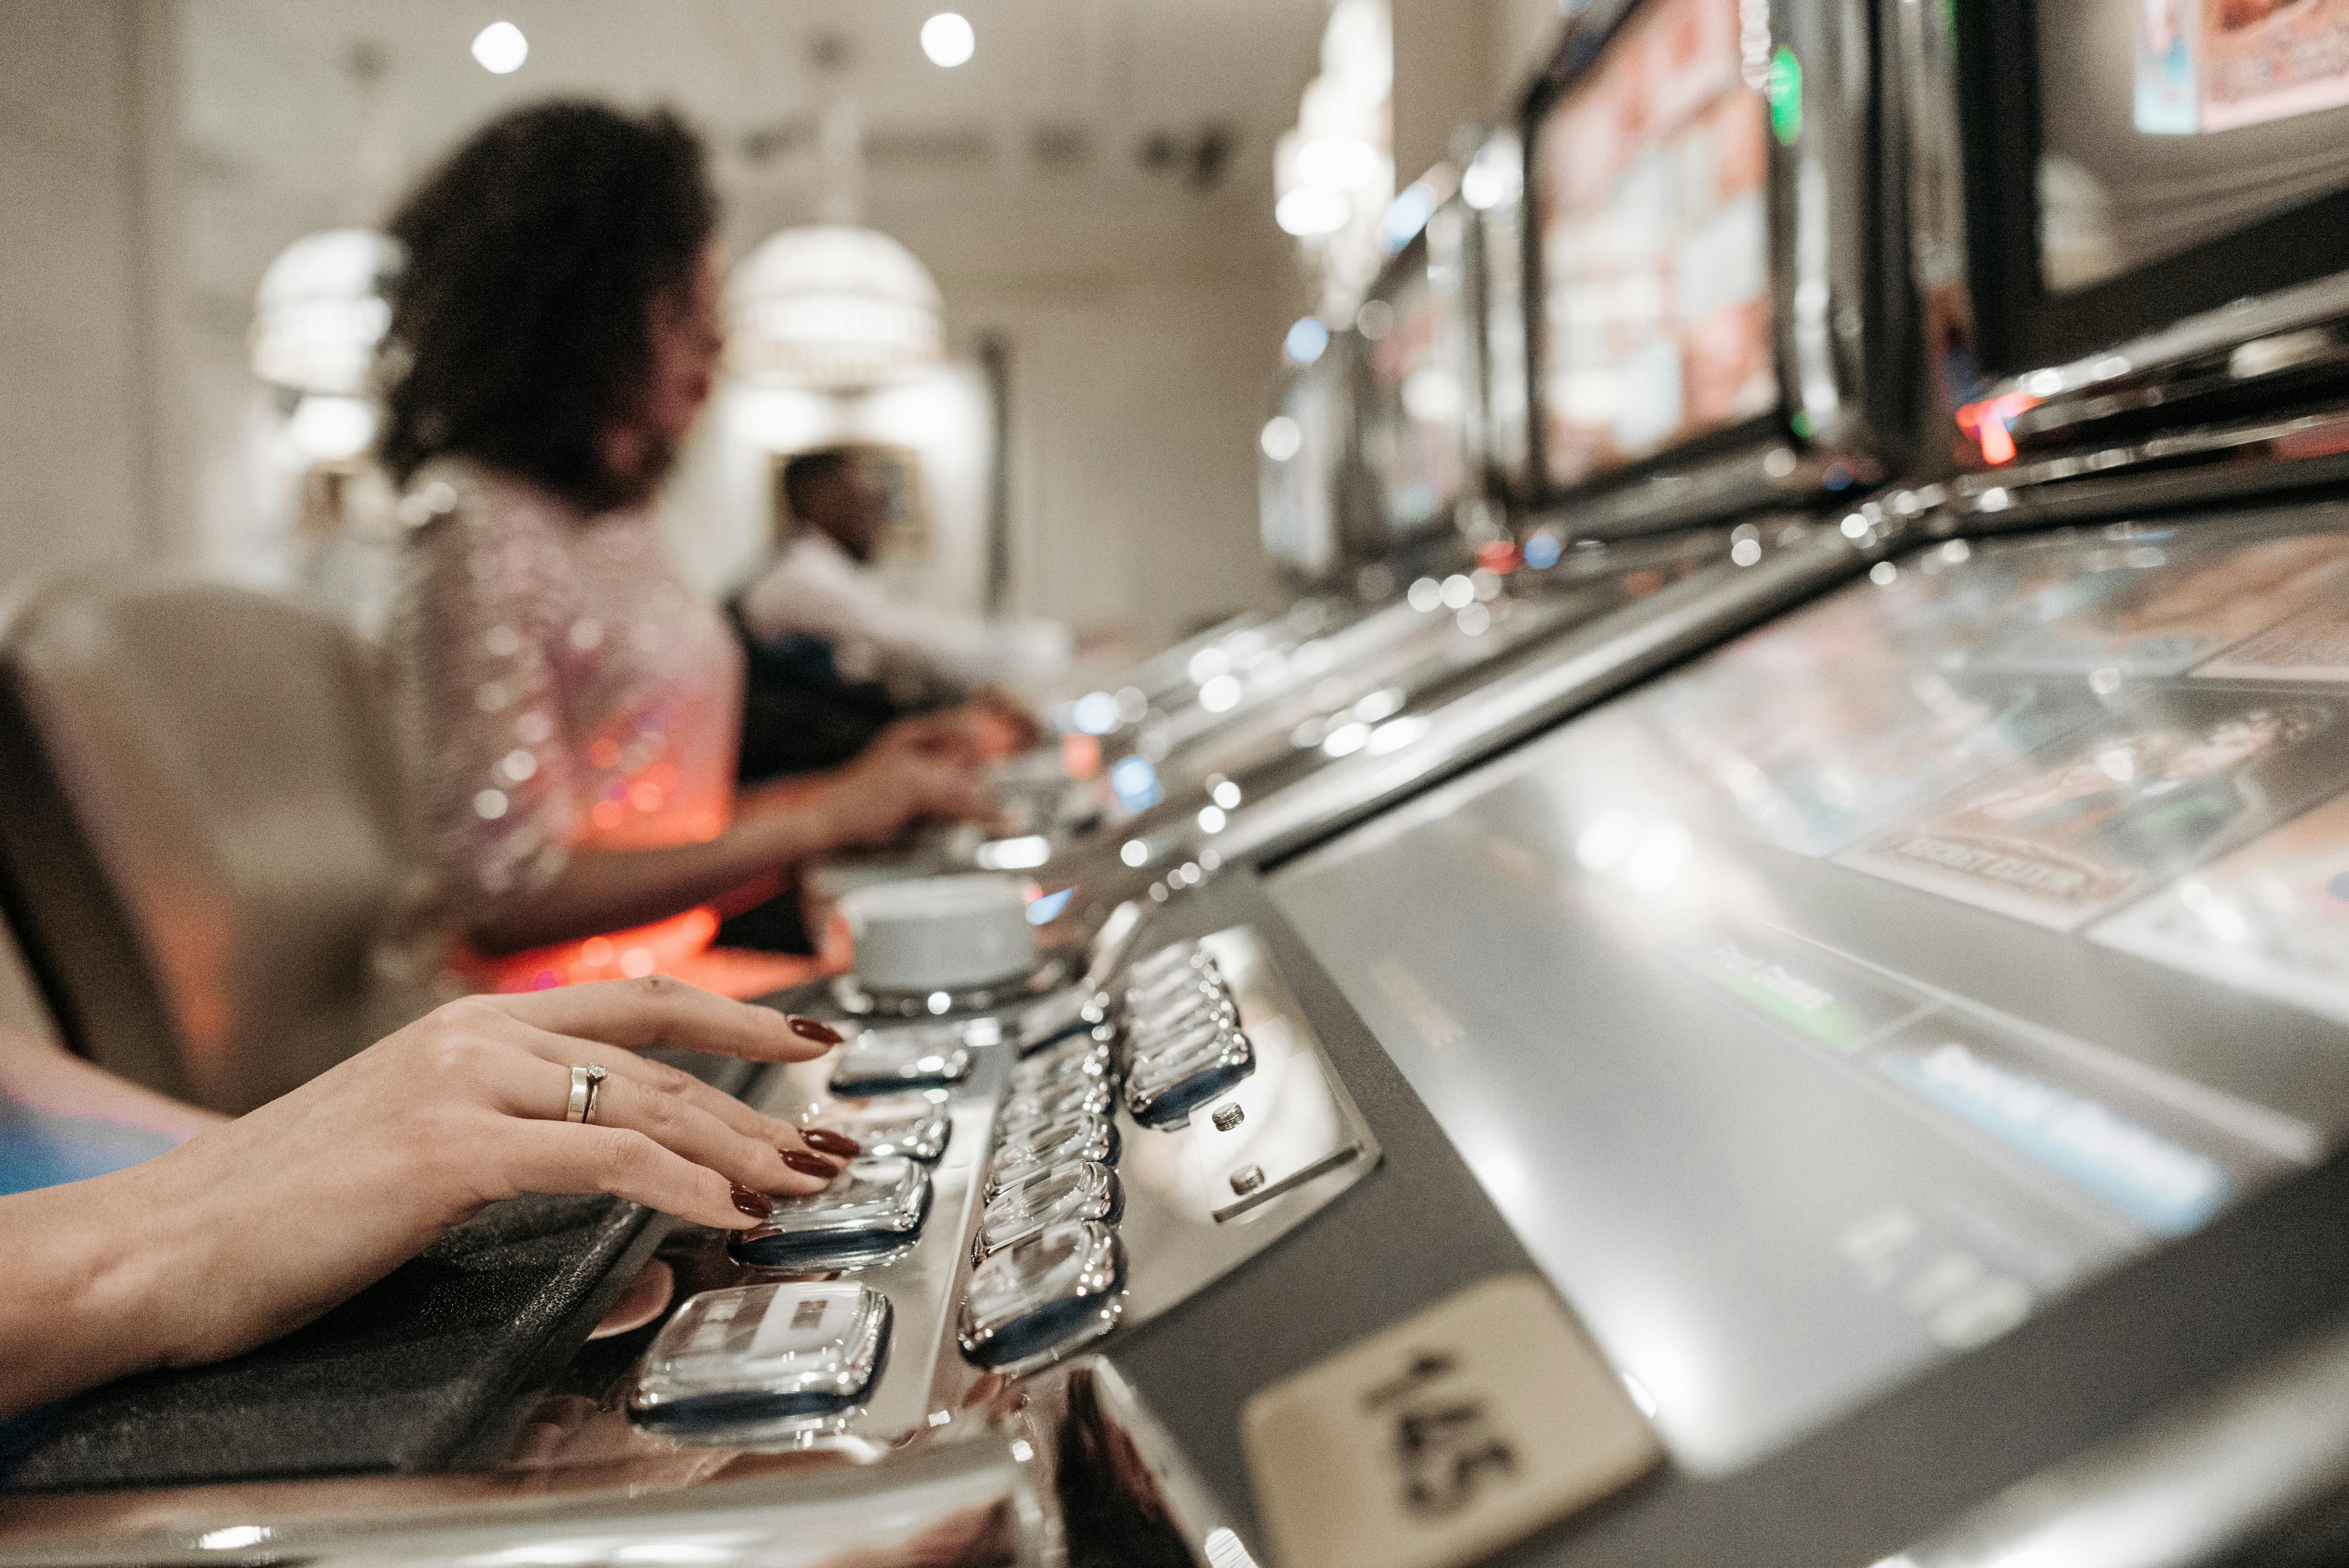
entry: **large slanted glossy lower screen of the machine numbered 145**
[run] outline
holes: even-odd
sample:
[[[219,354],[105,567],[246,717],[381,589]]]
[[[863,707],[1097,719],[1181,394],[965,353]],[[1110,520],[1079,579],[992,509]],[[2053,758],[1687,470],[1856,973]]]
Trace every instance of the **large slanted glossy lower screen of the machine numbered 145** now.
[[[2349,533],[1947,542],[1283,866],[1691,1469],[2349,1129]]]

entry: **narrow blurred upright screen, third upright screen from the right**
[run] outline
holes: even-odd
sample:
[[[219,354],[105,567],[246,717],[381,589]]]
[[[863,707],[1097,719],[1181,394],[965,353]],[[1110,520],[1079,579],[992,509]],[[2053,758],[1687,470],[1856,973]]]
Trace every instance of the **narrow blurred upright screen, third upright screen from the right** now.
[[[1442,207],[1362,303],[1362,469],[1391,535],[1449,526],[1466,474],[1459,209]]]

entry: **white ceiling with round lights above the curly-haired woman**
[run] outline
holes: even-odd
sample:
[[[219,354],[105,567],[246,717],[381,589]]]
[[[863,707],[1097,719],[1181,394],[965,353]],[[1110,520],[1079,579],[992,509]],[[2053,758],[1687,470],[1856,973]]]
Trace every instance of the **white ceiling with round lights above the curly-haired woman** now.
[[[183,0],[200,312],[242,331],[282,244],[378,218],[467,129],[552,94],[691,115],[740,251],[813,211],[803,131],[827,94],[822,35],[846,42],[834,80],[864,110],[871,221],[923,254],[949,296],[956,275],[1196,272],[1280,254],[1271,148],[1313,73],[1325,0],[963,0],[977,56],[940,70],[916,35],[944,2]],[[496,19],[531,40],[507,77],[467,52]],[[376,110],[350,70],[357,45],[388,61]],[[1207,127],[1229,131],[1231,157],[1200,188],[1184,160]],[[1151,138],[1172,167],[1144,164]]]

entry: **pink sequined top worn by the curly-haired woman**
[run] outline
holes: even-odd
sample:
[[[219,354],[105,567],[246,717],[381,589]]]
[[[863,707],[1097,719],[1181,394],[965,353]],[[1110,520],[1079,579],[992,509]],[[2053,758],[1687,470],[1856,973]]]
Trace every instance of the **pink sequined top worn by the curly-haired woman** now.
[[[646,509],[583,516],[524,479],[437,460],[399,516],[392,702],[449,927],[529,899],[573,850],[726,829],[742,650],[669,570]]]

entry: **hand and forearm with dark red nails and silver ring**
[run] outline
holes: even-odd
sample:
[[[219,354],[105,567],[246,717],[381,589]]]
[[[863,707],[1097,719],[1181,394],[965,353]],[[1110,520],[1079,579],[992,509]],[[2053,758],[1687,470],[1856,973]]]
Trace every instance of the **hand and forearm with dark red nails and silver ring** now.
[[[740,1230],[855,1153],[634,1054],[653,1042],[801,1061],[839,1035],[662,976],[467,998],[146,1164],[0,1199],[0,1415],[261,1345],[500,1197]],[[573,1063],[608,1073],[594,1124],[564,1120]]]

